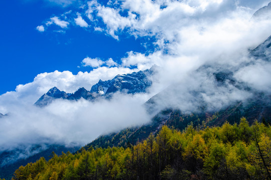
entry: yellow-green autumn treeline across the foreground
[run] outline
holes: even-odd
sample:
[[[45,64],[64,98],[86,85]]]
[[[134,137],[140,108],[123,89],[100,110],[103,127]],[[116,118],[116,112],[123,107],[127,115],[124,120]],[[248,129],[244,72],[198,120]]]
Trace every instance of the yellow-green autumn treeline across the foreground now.
[[[240,124],[183,131],[163,126],[127,147],[52,153],[20,166],[12,179],[271,179],[271,126]]]

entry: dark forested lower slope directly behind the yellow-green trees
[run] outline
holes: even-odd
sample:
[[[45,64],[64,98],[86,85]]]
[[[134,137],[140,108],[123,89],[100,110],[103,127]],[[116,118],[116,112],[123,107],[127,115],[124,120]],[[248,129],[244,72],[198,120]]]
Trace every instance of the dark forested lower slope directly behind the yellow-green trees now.
[[[262,122],[263,118],[271,123],[271,96],[255,94],[255,98],[245,102],[237,101],[219,111],[202,111],[200,113],[185,113],[180,109],[165,109],[157,113],[152,121],[140,127],[129,127],[119,132],[104,134],[87,144],[85,149],[92,147],[124,146],[136,144],[146,139],[150,133],[155,135],[163,125],[184,130],[189,124],[195,129],[206,126],[221,126],[227,120],[231,124],[239,123],[241,117],[246,117],[250,124],[254,120]]]

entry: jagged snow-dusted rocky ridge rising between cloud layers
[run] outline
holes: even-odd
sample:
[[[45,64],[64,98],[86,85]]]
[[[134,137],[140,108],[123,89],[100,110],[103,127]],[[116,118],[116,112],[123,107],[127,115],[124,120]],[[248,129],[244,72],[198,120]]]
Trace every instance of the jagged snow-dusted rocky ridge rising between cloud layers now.
[[[65,91],[60,91],[57,87],[52,87],[34,105],[43,107],[51,103],[54,99],[59,98],[68,100],[84,98],[93,101],[97,98],[110,98],[110,95],[117,91],[128,94],[146,92],[147,88],[152,85],[150,76],[156,73],[157,68],[157,65],[153,65],[150,69],[144,71],[140,70],[130,74],[119,74],[111,80],[99,80],[98,83],[91,87],[90,91],[84,87],[80,87],[74,93],[66,93]]]

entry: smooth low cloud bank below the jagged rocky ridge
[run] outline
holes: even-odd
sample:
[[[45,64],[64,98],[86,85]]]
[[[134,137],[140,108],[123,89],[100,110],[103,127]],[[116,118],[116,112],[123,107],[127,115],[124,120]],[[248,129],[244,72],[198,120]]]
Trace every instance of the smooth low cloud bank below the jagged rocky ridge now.
[[[58,99],[44,108],[16,106],[0,119],[0,151],[20,143],[84,145],[101,133],[141,125],[149,120],[142,106],[146,98],[115,94],[111,100],[94,103]]]

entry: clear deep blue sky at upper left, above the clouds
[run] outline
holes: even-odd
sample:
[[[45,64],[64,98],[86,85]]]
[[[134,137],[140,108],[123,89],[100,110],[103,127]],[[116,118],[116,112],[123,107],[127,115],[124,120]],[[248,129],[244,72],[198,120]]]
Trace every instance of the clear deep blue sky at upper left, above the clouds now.
[[[0,94],[33,81],[42,72],[89,71],[81,66],[85,57],[119,61],[128,51],[145,51],[140,38],[123,35],[116,40],[103,32],[80,26],[55,32],[58,26],[40,32],[36,27],[53,15],[78,9],[79,3],[57,4],[46,0],[4,0],[0,6]],[[80,66],[78,68],[77,66]]]

